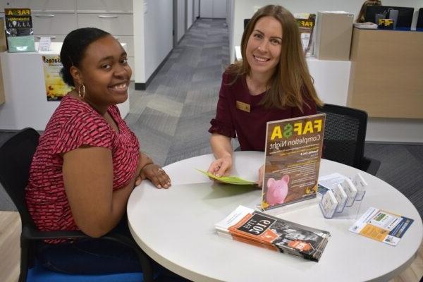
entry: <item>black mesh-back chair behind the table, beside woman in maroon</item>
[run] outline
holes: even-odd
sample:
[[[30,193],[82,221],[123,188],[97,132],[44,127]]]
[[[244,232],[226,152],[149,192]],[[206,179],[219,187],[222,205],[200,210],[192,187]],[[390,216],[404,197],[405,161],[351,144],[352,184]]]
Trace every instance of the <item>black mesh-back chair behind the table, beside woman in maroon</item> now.
[[[359,109],[324,104],[317,112],[326,114],[324,159],[353,166],[376,175],[381,162],[364,157],[367,113]]]

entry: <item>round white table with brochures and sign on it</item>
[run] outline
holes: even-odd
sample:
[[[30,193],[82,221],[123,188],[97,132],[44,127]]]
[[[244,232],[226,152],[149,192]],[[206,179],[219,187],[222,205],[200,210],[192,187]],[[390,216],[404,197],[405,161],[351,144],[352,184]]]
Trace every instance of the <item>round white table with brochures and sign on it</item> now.
[[[194,170],[207,168],[213,159],[208,154],[166,166],[171,189],[159,190],[144,181],[128,202],[137,243],[180,276],[192,281],[388,281],[415,259],[423,234],[419,213],[398,190],[362,171],[369,188],[360,213],[374,206],[415,219],[396,247],[351,233],[353,219],[324,219],[317,205],[279,216],[331,233],[318,263],[221,238],[214,223],[238,204],[258,204],[261,190],[214,185]],[[233,174],[254,179],[263,153],[235,152],[234,161]],[[357,169],[322,160],[320,175],[333,172],[351,176]]]

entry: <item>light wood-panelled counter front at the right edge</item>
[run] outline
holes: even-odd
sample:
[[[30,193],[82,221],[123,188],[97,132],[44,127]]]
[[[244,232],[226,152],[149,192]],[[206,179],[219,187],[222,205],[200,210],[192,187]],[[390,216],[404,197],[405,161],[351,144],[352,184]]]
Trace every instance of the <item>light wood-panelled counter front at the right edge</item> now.
[[[423,32],[353,30],[348,106],[377,118],[423,118]]]

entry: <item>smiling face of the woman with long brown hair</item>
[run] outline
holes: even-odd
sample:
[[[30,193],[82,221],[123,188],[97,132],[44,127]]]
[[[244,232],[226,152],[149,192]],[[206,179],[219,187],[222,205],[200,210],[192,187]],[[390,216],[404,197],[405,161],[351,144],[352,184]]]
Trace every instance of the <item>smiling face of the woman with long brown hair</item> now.
[[[276,70],[282,49],[282,25],[271,16],[259,18],[247,42],[245,54],[251,75],[269,75]]]

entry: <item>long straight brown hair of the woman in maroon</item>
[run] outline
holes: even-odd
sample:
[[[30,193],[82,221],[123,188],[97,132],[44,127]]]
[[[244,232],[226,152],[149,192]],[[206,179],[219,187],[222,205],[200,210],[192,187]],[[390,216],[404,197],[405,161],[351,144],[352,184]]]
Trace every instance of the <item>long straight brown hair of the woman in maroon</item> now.
[[[276,71],[267,83],[268,89],[260,104],[266,108],[284,109],[286,106],[296,106],[302,111],[305,103],[303,97],[321,106],[323,102],[317,97],[313,80],[309,74],[305,54],[300,41],[300,31],[294,16],[282,6],[268,5],[260,8],[248,22],[241,39],[241,54],[243,61],[228,66],[226,71],[235,76],[235,80],[243,75],[250,75],[250,65],[247,62],[247,42],[259,18],[271,16],[282,25],[281,57]],[[234,81],[235,81],[234,80]]]

